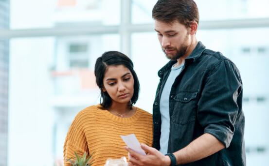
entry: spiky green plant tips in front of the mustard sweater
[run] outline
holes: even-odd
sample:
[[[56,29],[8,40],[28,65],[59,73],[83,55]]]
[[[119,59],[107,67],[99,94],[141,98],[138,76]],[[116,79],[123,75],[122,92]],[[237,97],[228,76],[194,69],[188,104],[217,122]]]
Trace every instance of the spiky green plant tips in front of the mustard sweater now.
[[[72,166],[91,166],[92,165],[92,155],[89,155],[89,157],[86,158],[87,153],[84,152],[83,156],[78,155],[75,152],[75,160],[73,158],[68,159],[67,161],[70,162],[72,164]]]

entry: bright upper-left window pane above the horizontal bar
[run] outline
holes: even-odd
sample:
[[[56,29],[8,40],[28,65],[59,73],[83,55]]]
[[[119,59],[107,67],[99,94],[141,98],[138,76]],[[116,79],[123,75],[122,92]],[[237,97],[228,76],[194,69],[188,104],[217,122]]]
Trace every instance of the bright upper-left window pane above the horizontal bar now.
[[[118,25],[120,0],[11,0],[11,29]]]

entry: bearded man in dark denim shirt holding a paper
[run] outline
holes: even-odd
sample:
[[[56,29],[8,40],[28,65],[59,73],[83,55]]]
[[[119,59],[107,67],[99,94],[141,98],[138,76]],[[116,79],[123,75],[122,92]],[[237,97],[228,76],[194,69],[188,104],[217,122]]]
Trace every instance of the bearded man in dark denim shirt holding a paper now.
[[[126,147],[130,165],[245,166],[242,81],[235,64],[197,42],[193,0],[158,0],[152,17],[170,61],[158,73],[154,148],[141,145],[148,153],[143,156]]]

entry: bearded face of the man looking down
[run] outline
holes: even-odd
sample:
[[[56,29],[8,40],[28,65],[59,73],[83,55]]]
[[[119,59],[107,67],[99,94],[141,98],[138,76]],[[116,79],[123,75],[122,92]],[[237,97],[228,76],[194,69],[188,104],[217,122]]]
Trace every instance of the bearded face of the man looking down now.
[[[177,60],[186,54],[191,45],[188,29],[178,21],[168,24],[155,20],[155,31],[158,32],[158,39],[163,52],[170,60]]]

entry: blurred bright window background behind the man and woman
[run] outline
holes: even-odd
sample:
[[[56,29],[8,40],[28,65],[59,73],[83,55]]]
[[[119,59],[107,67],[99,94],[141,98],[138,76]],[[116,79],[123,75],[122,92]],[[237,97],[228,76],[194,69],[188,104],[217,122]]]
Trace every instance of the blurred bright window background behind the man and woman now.
[[[97,57],[122,51],[152,113],[168,61],[154,31],[157,0],[0,0],[0,166],[62,166],[78,111],[100,102]],[[248,166],[269,165],[269,0],[195,0],[197,39],[241,72]]]

